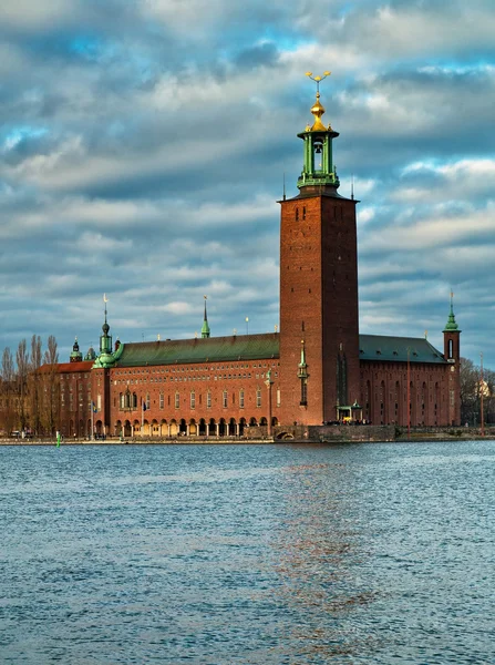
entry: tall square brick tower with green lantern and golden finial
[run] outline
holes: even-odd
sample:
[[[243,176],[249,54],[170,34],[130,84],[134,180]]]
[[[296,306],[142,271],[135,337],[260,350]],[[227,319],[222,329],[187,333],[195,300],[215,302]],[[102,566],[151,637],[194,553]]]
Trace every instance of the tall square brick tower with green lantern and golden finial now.
[[[321,424],[360,418],[358,255],[354,200],[338,194],[319,83],[303,145],[299,194],[280,222],[280,420]]]

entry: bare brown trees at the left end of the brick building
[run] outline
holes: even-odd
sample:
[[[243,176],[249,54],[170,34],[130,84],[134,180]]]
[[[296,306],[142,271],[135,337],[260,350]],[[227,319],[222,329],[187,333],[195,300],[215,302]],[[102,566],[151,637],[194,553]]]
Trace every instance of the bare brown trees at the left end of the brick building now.
[[[60,377],[56,339],[50,335],[43,350],[41,337],[33,335],[28,347],[21,339],[12,354],[3,349],[0,372],[0,430],[4,434],[24,431],[53,434],[60,413]],[[43,367],[43,371],[40,368]]]

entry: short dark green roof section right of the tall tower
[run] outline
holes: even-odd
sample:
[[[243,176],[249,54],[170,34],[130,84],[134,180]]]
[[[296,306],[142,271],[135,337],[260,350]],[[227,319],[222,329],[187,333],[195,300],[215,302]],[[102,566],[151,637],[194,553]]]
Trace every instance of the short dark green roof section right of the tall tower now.
[[[360,335],[360,360],[446,364],[443,355],[426,338],[386,337],[384,335]]]

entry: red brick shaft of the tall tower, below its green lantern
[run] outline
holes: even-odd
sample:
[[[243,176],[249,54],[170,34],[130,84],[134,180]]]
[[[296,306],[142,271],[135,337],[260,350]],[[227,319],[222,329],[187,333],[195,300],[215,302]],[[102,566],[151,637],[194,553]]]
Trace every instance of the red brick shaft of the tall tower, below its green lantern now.
[[[355,203],[313,196],[281,203],[280,376],[285,422],[336,419],[337,357],[348,365],[348,401],[359,399]],[[301,340],[308,406],[297,377]]]

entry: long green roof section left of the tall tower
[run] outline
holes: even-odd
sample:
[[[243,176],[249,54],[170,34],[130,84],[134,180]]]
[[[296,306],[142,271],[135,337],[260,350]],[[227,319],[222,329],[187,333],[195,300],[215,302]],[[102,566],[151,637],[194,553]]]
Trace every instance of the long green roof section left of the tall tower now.
[[[279,357],[279,335],[236,335],[125,344],[115,367],[226,362]]]

